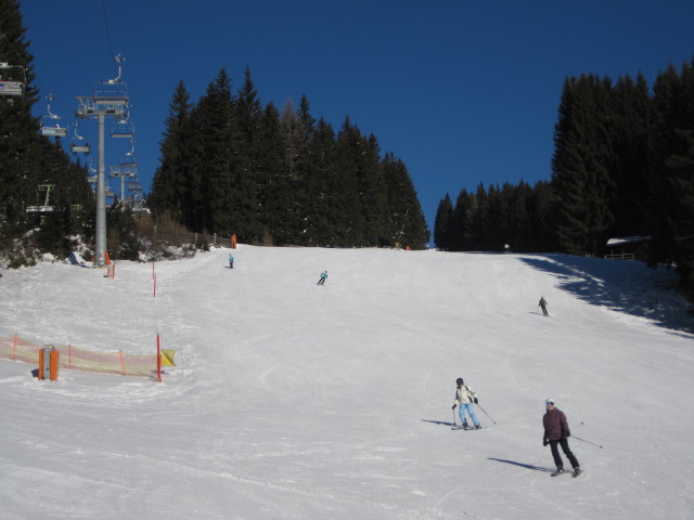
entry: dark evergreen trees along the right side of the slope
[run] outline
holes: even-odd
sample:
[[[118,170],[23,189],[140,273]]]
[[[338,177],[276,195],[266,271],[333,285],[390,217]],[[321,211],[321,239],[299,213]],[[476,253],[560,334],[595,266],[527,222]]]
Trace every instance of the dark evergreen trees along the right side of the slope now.
[[[434,222],[444,250],[604,256],[615,237],[648,237],[651,265],[677,265],[694,290],[694,58],[658,74],[564,81],[549,181],[446,195]]]

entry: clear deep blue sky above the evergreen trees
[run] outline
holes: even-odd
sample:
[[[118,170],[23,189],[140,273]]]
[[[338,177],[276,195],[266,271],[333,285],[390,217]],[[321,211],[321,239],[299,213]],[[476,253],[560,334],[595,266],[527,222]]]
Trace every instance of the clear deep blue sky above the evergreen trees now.
[[[178,81],[197,101],[222,67],[239,89],[247,65],[264,104],[281,109],[306,94],[313,117],[337,130],[348,115],[400,157],[429,229],[447,193],[550,179],[566,77],[642,72],[653,84],[694,54],[691,0],[23,0],[21,9],[36,84],[55,96],[64,125],[76,95],[116,76],[112,55],[126,58],[145,192]],[[97,143],[95,121],[80,130]],[[106,141],[106,165],[129,151],[123,141]]]

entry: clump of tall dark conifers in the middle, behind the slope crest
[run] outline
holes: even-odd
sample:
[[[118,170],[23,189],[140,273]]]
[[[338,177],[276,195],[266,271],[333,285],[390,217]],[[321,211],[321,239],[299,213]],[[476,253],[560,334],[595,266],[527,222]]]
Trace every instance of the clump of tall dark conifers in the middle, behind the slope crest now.
[[[248,244],[427,247],[404,164],[345,118],[337,132],[298,108],[265,106],[246,67],[224,69],[196,103],[181,80],[169,104],[149,207],[195,232]]]

